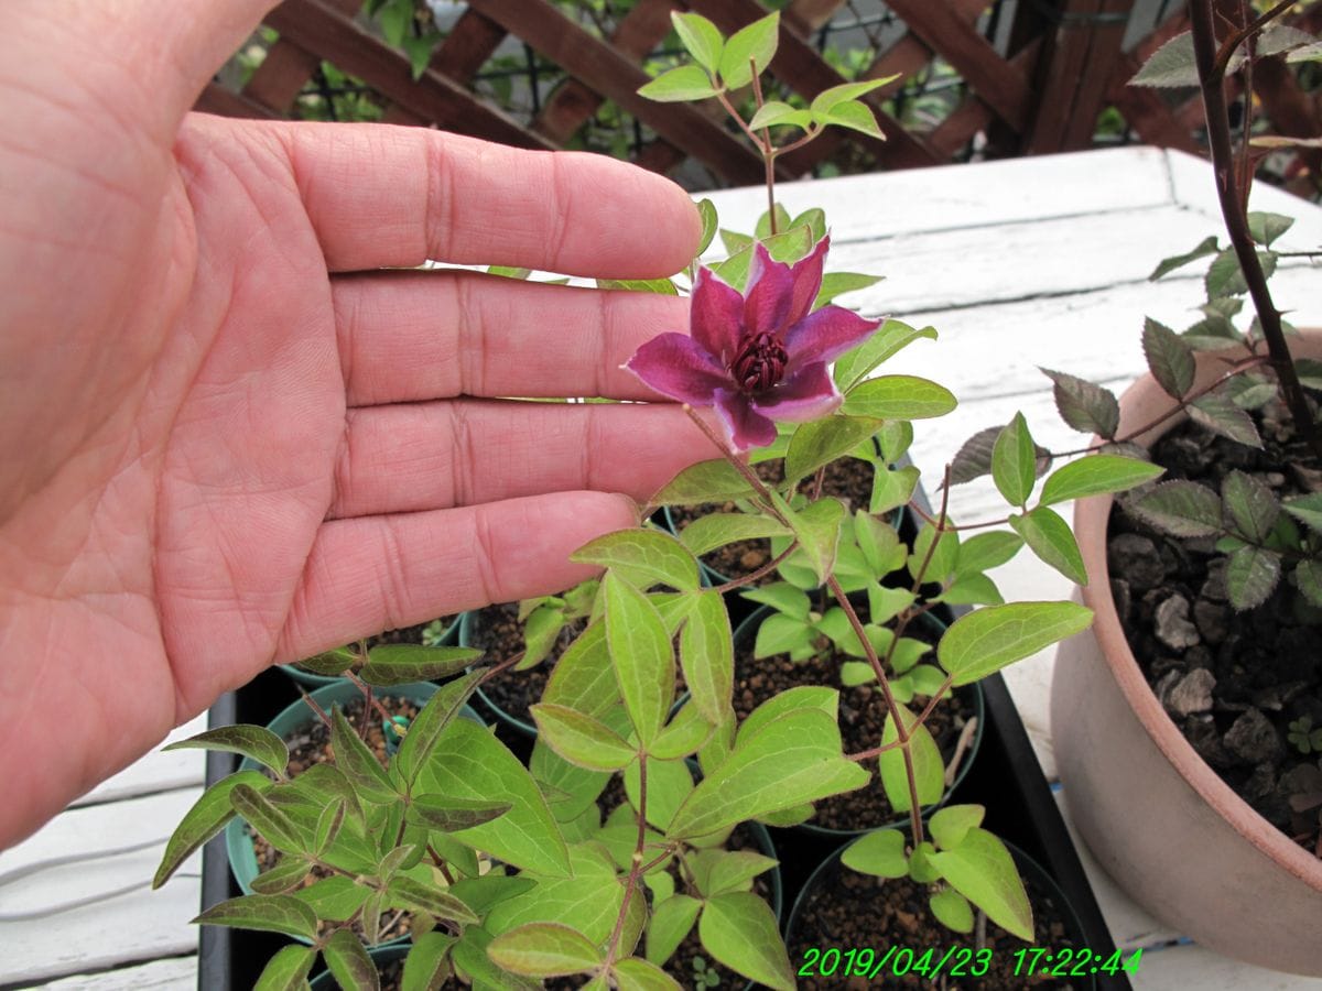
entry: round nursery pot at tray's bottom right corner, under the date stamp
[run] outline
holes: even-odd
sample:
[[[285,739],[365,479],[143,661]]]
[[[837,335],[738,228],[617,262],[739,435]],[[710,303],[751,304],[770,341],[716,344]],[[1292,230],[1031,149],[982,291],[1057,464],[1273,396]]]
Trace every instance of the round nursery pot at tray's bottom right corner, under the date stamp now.
[[[862,835],[855,836],[847,843],[842,843],[834,854],[818,864],[817,869],[812,872],[798,892],[798,897],[795,899],[793,910],[791,910],[789,918],[785,922],[784,936],[785,947],[789,950],[789,959],[800,980],[816,978],[817,987],[842,987],[849,979],[842,967],[859,966],[858,962],[863,959],[858,954],[850,955],[849,950],[853,949],[862,953],[870,949],[876,962],[869,966],[880,966],[883,969],[876,973],[876,976],[870,978],[869,987],[879,984],[890,987],[891,983],[899,983],[906,975],[908,975],[910,980],[914,980],[915,976],[921,979],[921,971],[914,970],[914,966],[921,959],[925,951],[932,950],[928,963],[931,966],[937,963],[948,949],[961,947],[964,941],[969,941],[968,953],[954,951],[947,958],[948,970],[945,973],[957,986],[964,986],[962,982],[968,982],[970,987],[980,987],[980,975],[970,971],[970,967],[976,966],[976,959],[973,958],[976,950],[972,945],[972,934],[961,936],[941,926],[943,938],[940,939],[929,941],[920,937],[920,939],[911,939],[906,943],[903,933],[875,932],[870,943],[846,946],[845,941],[849,939],[847,936],[842,938],[839,933],[824,930],[817,925],[809,924],[809,909],[816,906],[818,900],[830,897],[829,888],[837,884],[841,873],[854,873],[841,863],[841,855],[861,839]],[[1021,974],[1014,979],[1017,982],[1022,979],[1023,987],[1035,984],[1035,979],[1040,980],[1050,975],[1068,980],[1069,986],[1075,988],[1096,988],[1099,984],[1099,969],[1110,959],[1110,954],[1108,953],[1107,957],[1093,955],[1084,926],[1079,921],[1073,905],[1069,904],[1069,900],[1055,879],[1013,843],[1006,843],[1006,847],[1014,858],[1014,863],[1019,868],[1019,873],[1029,889],[1029,901],[1034,909],[1034,936],[1036,938],[1032,943],[1026,943],[1006,933],[1005,938],[1011,945],[994,946],[992,949],[993,959],[997,962],[1009,961],[1011,965],[1018,965]],[[865,875],[854,876],[865,877]],[[880,887],[892,884],[892,881],[883,879],[867,880],[875,881]],[[927,910],[925,900],[923,909]],[[857,892],[851,892],[847,910],[855,917],[862,917],[867,912],[866,900]],[[1043,922],[1044,918],[1054,918],[1064,929],[1066,939],[1056,946],[1052,946],[1044,938],[1048,932]],[[990,925],[989,922],[989,928]],[[1043,953],[1035,953],[1039,949]],[[894,950],[894,953],[887,957],[887,950]],[[908,953],[904,953],[906,950]],[[1021,955],[1015,957],[1017,953]],[[1110,959],[1110,966],[1120,970],[1125,962],[1132,959],[1132,954],[1116,953],[1118,957]],[[956,969],[953,965],[956,963],[960,965],[957,969],[962,970],[962,975],[952,974],[952,969]],[[1052,973],[1054,969],[1059,970],[1059,973]],[[931,970],[927,976],[933,976]],[[924,987],[928,986],[927,979],[923,979],[921,983]]]

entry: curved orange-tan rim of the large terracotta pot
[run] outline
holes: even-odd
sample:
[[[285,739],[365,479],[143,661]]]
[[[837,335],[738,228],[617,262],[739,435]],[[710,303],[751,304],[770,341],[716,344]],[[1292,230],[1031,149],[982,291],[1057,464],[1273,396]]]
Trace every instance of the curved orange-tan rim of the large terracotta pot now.
[[[1305,337],[1314,350],[1322,350],[1322,330],[1307,332]],[[1125,410],[1126,400],[1132,406],[1157,394],[1165,395],[1151,375],[1144,375],[1121,395],[1121,411]],[[1124,416],[1124,412],[1121,415]],[[1161,427],[1145,433],[1144,439],[1155,440],[1186,419],[1185,414],[1173,416]],[[1095,440],[1100,443],[1100,439]],[[1120,626],[1120,614],[1110,595],[1107,526],[1113,502],[1110,495],[1079,499],[1075,503],[1073,531],[1083,552],[1084,568],[1091,576],[1089,584],[1079,588],[1079,595],[1084,605],[1093,610],[1092,636],[1097,640],[1116,684],[1153,743],[1190,788],[1253,847],[1322,893],[1322,859],[1311,856],[1264,819],[1222,780],[1220,774],[1212,770],[1162,708],[1157,694],[1138,667],[1138,661]],[[1085,540],[1084,535],[1091,539]]]

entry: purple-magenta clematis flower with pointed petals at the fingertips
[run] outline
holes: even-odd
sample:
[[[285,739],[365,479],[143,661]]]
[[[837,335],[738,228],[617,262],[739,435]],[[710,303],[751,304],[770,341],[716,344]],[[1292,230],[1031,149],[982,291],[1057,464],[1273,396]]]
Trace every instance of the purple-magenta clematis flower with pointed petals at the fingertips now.
[[[715,407],[736,453],[776,440],[776,420],[816,420],[841,403],[826,363],[862,344],[880,321],[843,307],[813,309],[830,238],[785,264],[754,250],[744,295],[698,270],[689,333],[665,333],[625,363],[656,391]]]

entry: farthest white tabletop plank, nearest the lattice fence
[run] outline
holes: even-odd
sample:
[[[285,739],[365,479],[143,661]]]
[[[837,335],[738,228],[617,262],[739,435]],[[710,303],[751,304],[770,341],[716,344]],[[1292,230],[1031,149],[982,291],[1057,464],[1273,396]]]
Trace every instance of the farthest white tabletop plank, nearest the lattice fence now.
[[[767,209],[761,186],[703,196],[730,230],[751,231]],[[857,240],[1158,206],[1173,193],[1163,152],[1114,148],[780,184],[776,198],[792,214],[822,207],[837,240]]]

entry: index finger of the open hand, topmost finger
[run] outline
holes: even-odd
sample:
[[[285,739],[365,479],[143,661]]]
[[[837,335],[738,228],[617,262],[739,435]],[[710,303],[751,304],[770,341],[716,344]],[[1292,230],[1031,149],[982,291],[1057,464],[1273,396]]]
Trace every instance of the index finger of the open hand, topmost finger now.
[[[661,176],[579,152],[533,152],[420,127],[272,124],[332,271],[426,259],[567,275],[670,275],[701,237]]]

